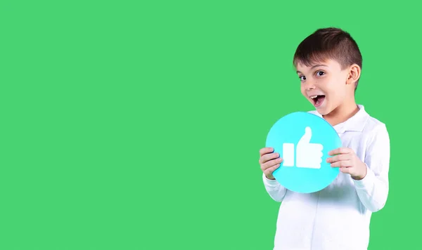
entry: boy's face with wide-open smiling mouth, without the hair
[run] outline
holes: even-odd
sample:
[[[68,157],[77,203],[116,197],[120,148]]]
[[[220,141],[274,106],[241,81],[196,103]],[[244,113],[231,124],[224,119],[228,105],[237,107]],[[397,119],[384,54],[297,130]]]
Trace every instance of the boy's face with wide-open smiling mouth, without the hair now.
[[[322,115],[335,110],[350,94],[350,86],[346,84],[348,70],[341,70],[341,65],[335,60],[318,62],[310,67],[298,64],[296,70],[302,95]]]

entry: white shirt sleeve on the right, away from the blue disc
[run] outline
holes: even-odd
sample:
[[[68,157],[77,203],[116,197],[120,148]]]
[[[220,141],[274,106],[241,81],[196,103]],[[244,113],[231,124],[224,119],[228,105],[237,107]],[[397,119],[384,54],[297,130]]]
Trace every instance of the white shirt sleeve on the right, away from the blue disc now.
[[[354,180],[354,186],[366,209],[376,212],[385,206],[389,190],[390,138],[385,124],[373,132],[366,147],[364,163],[366,176],[362,180]]]

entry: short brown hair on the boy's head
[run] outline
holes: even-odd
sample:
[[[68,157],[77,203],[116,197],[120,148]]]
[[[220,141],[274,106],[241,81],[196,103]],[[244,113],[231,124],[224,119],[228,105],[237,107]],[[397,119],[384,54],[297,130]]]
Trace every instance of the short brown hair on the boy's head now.
[[[342,70],[356,63],[362,69],[362,54],[356,41],[348,32],[335,27],[316,29],[313,34],[305,38],[296,49],[293,65],[298,63],[311,66],[315,62],[327,59],[336,60]],[[355,88],[357,88],[357,83]]]

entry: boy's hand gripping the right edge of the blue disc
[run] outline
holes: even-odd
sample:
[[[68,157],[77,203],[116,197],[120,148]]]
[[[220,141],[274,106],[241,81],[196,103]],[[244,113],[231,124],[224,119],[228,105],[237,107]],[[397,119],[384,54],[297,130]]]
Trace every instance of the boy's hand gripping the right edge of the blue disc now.
[[[366,164],[357,157],[352,149],[339,147],[331,150],[328,154],[333,157],[327,158],[327,162],[331,163],[333,167],[340,167],[340,171],[349,173],[354,180],[362,180],[366,176]]]

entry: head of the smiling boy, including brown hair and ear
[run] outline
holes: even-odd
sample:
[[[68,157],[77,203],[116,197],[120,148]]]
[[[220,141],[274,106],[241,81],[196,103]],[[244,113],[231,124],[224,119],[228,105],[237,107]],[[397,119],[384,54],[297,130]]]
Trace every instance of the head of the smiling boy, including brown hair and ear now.
[[[317,29],[294,55],[303,96],[321,114],[354,101],[362,55],[349,33],[333,27]]]

